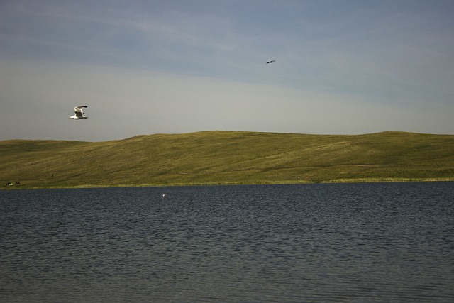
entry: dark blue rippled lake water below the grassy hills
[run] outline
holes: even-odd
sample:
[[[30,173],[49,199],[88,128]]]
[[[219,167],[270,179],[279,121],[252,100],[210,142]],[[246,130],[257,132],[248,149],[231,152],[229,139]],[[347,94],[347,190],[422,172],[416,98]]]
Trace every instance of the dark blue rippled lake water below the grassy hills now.
[[[0,200],[0,302],[454,302],[454,182]]]

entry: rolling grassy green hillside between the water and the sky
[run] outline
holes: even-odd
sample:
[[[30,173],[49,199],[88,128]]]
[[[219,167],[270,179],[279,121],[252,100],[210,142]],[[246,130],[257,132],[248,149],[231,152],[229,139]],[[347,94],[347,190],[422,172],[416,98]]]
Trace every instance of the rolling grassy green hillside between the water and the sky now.
[[[0,188],[454,180],[454,136],[204,131],[0,141]]]

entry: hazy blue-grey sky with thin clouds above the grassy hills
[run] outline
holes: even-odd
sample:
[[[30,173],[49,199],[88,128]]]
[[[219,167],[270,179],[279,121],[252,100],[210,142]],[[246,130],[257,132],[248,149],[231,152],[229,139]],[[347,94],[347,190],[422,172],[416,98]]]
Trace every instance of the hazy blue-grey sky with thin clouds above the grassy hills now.
[[[452,0],[0,0],[0,140],[454,134],[453,14]],[[78,105],[89,119],[68,119]]]

